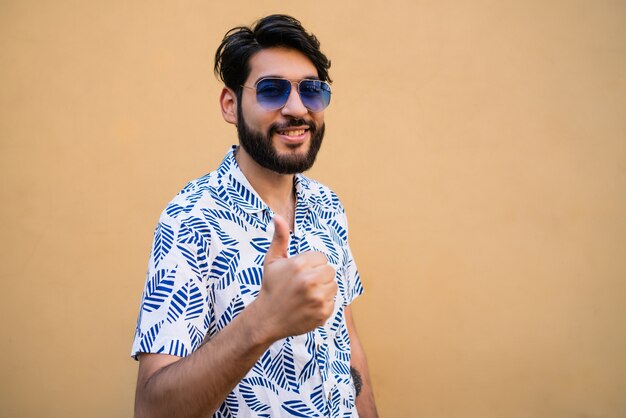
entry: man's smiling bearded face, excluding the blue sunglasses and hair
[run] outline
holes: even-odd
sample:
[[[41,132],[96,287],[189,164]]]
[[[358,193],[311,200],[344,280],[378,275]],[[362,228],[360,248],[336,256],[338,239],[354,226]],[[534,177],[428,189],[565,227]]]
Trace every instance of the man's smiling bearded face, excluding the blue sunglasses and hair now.
[[[317,78],[313,63],[302,53],[268,48],[250,59],[246,86],[266,77],[298,82]],[[281,174],[311,168],[324,137],[324,113],[309,111],[300,100],[295,83],[285,106],[268,111],[256,100],[256,91],[243,89],[237,104],[237,132],[242,148],[262,167]]]

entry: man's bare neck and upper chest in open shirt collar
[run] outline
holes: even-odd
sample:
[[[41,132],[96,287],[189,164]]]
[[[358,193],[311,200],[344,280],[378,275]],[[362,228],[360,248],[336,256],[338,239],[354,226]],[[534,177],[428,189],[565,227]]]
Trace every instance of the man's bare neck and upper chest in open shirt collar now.
[[[235,154],[237,165],[263,201],[281,215],[293,230],[295,192],[293,174],[280,174],[260,166],[242,147]]]

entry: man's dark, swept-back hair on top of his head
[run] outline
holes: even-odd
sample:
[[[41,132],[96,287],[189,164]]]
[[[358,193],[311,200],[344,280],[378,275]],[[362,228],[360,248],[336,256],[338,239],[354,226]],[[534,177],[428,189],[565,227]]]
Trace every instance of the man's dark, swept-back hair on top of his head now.
[[[320,80],[331,82],[330,60],[320,51],[320,43],[302,24],[287,15],[271,15],[257,20],[251,27],[238,26],[224,35],[215,52],[215,75],[235,92],[250,75],[250,58],[262,49],[285,47],[304,54],[317,69]]]

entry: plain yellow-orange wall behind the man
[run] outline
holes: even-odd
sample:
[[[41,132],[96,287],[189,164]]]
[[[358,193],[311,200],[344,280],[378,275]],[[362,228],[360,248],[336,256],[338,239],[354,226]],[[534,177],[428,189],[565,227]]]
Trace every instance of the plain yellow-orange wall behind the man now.
[[[212,55],[277,11],[333,61],[381,415],[626,416],[626,4],[283,3],[0,0],[0,416],[131,416],[156,220],[235,141]]]

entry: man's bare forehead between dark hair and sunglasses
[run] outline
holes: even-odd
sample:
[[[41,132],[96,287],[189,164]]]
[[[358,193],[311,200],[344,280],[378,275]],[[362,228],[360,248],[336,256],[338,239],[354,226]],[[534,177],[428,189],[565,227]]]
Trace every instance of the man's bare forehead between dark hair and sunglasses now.
[[[254,84],[263,77],[282,77],[289,80],[317,78],[317,69],[303,53],[288,48],[262,49],[250,58],[247,82]]]

